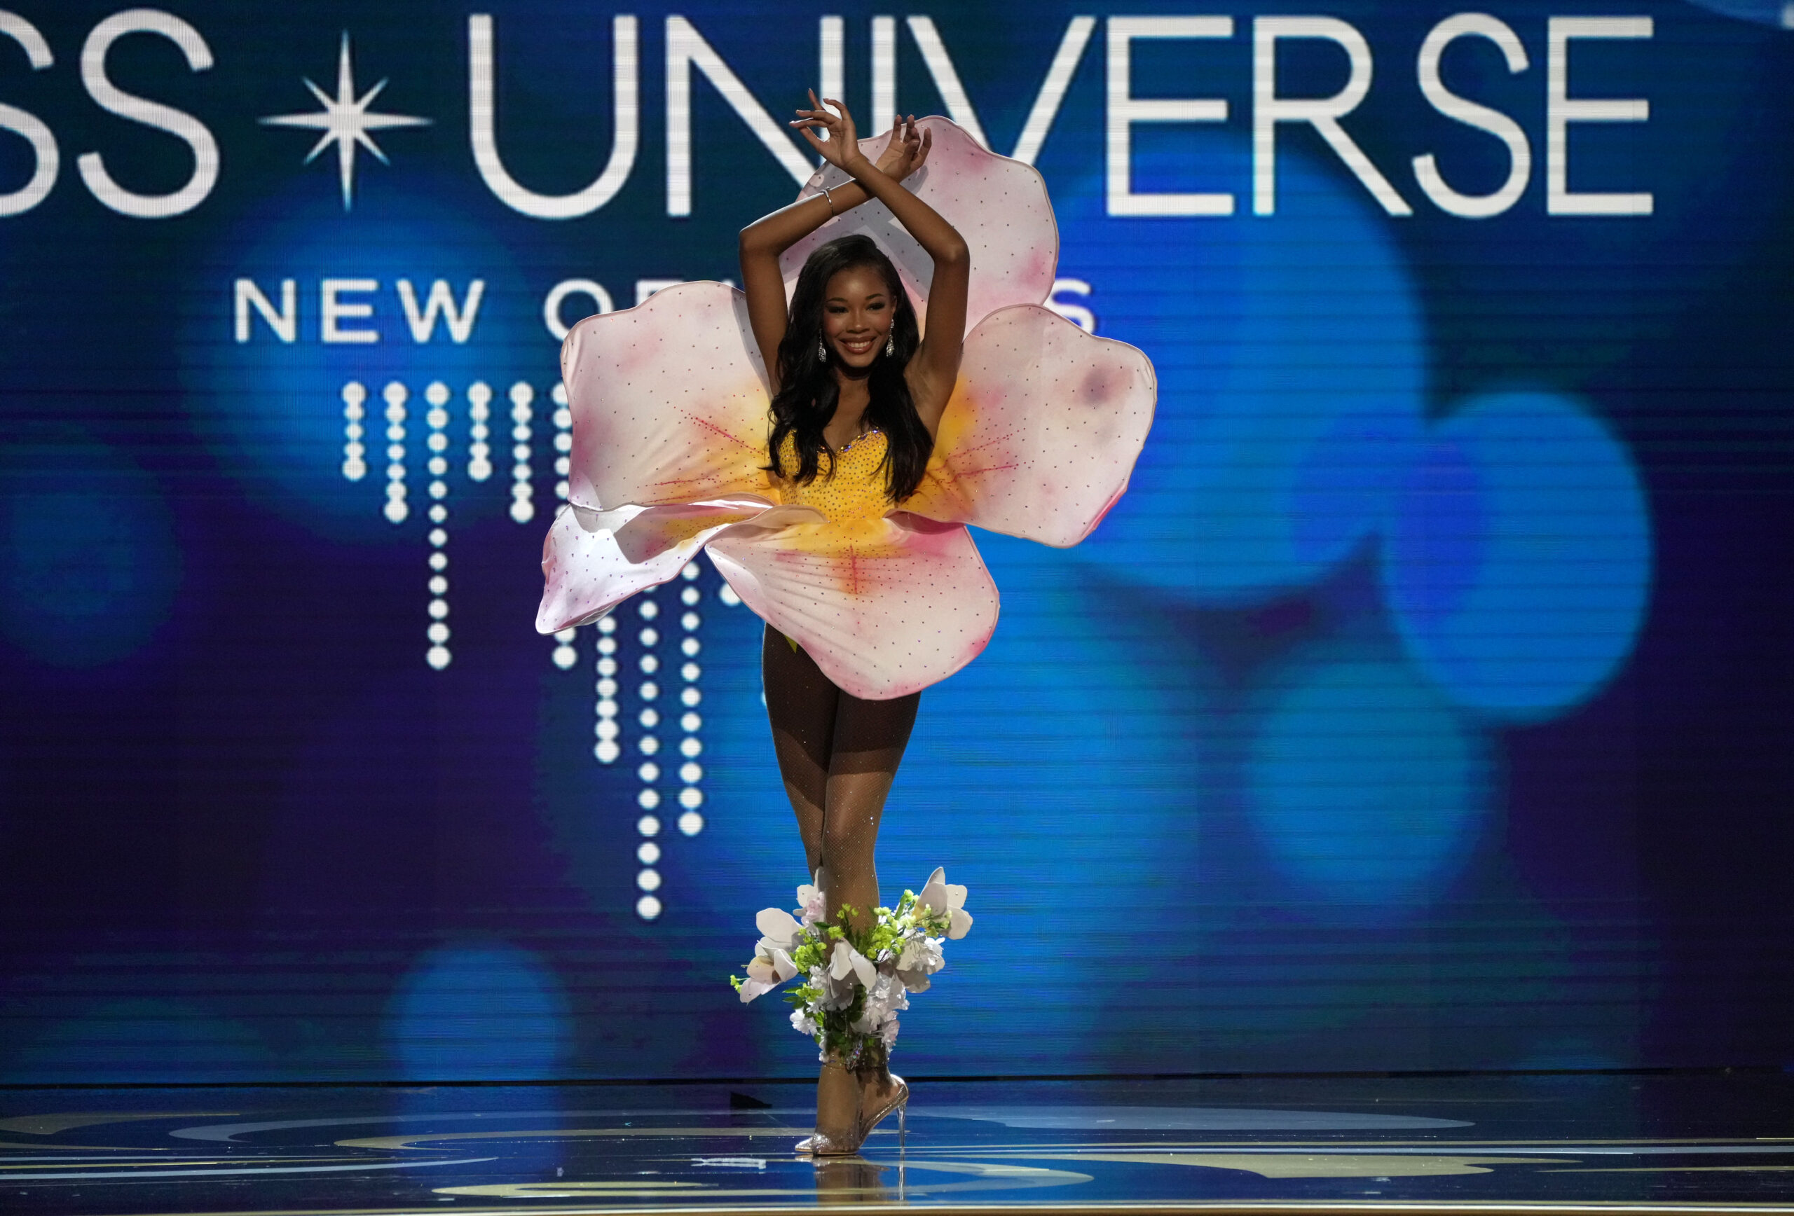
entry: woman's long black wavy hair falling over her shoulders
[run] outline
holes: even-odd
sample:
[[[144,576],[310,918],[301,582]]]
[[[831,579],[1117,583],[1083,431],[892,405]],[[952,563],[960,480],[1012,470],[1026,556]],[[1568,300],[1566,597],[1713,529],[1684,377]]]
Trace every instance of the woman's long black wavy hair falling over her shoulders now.
[[[870,402],[867,404],[867,421],[884,432],[884,484],[892,502],[902,502],[922,484],[927,470],[927,457],[935,450],[935,439],[922,425],[922,416],[915,411],[910,396],[910,382],[904,380],[904,368],[920,344],[920,330],[915,323],[915,308],[904,294],[897,267],[874,244],[872,237],[840,237],[818,248],[804,262],[804,271],[797,276],[797,291],[791,294],[791,317],[786,325],[784,341],[779,343],[779,396],[773,398],[773,432],[768,439],[771,463],[766,472],[775,477],[809,484],[822,473],[822,457],[829,457],[827,475],[834,475],[834,452],[822,438],[822,429],[834,418],[834,404],[840,387],[829,364],[818,357],[822,343],[822,307],[829,291],[829,280],[847,269],[872,267],[884,276],[884,291],[890,294],[892,337],[895,352],[886,355],[877,348],[877,357],[867,375]],[[786,436],[795,436],[797,470],[780,468],[779,448]]]

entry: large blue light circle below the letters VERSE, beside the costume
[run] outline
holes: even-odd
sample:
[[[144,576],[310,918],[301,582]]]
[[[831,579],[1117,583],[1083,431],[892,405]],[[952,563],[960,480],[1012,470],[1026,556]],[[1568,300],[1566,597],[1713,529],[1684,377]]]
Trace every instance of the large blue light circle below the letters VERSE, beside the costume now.
[[[1179,151],[1191,147],[1182,178],[1252,179],[1243,140],[1206,133]],[[1152,179],[1154,156],[1136,160]],[[1421,436],[1421,314],[1385,217],[1299,152],[1277,174],[1276,219],[1064,208],[1062,273],[1078,273],[1080,240],[1102,249],[1125,291],[1096,283],[1098,332],[1159,375],[1128,491],[1080,556],[1186,603],[1319,581],[1371,534]]]

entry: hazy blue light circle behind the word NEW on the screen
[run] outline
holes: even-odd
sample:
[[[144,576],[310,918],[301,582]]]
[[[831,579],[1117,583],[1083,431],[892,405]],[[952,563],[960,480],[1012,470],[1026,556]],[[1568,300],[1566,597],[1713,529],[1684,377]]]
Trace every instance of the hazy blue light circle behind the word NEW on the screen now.
[[[432,179],[423,188],[393,190],[379,201],[357,201],[344,213],[335,199],[282,199],[237,215],[194,269],[213,291],[183,294],[185,405],[194,429],[239,481],[248,500],[269,506],[307,529],[335,542],[382,542],[391,524],[422,513],[431,452],[423,447],[425,411],[447,411],[454,470],[445,493],[456,493],[456,517],[497,515],[502,490],[463,481],[468,438],[468,386],[527,369],[542,384],[554,378],[554,359],[540,330],[522,316],[535,307],[515,258],[477,215],[479,195],[465,183]],[[283,283],[294,289],[296,326],[282,341],[253,307],[237,328],[237,283],[251,282],[280,310]],[[413,285],[416,305],[441,280],[463,316],[472,310],[466,341],[456,341],[447,314],[438,314],[429,339],[411,328],[398,282]],[[472,283],[484,283],[472,308]],[[370,307],[371,314],[341,321],[341,330],[377,334],[377,341],[327,341],[325,283],[341,287],[337,303]],[[527,307],[526,307],[527,301]],[[427,386],[448,393],[441,404]],[[409,391],[409,393],[407,393]],[[388,482],[386,443],[389,409],[407,404],[409,418],[400,477]],[[407,402],[409,395],[409,402]],[[352,400],[353,396],[353,400]],[[443,396],[438,393],[436,396]],[[355,404],[364,418],[353,418]],[[350,411],[350,416],[344,411]],[[361,421],[355,439],[364,452],[344,448],[344,425]],[[468,481],[472,477],[468,475]],[[382,504],[380,486],[391,497]],[[405,499],[411,499],[407,504]],[[384,508],[384,509],[382,509]],[[384,520],[382,520],[384,515]]]

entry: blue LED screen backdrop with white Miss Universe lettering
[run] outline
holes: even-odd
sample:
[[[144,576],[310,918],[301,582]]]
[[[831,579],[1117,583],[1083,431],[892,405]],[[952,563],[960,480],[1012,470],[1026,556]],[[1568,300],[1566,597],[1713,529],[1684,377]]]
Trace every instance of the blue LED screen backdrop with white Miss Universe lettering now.
[[[0,11],[0,1080],[809,1067],[759,622],[531,622],[558,337],[730,278],[814,83],[1037,165],[1161,382],[980,536],[906,1071],[1794,1060],[1783,5],[1222,9]]]

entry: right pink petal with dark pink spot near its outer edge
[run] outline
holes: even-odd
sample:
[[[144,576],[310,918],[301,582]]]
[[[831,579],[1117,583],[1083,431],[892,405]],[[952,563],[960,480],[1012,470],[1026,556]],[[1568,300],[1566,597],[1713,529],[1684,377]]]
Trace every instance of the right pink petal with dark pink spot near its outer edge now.
[[[965,341],[922,486],[906,511],[1075,545],[1127,490],[1152,427],[1146,355],[1037,307]]]

